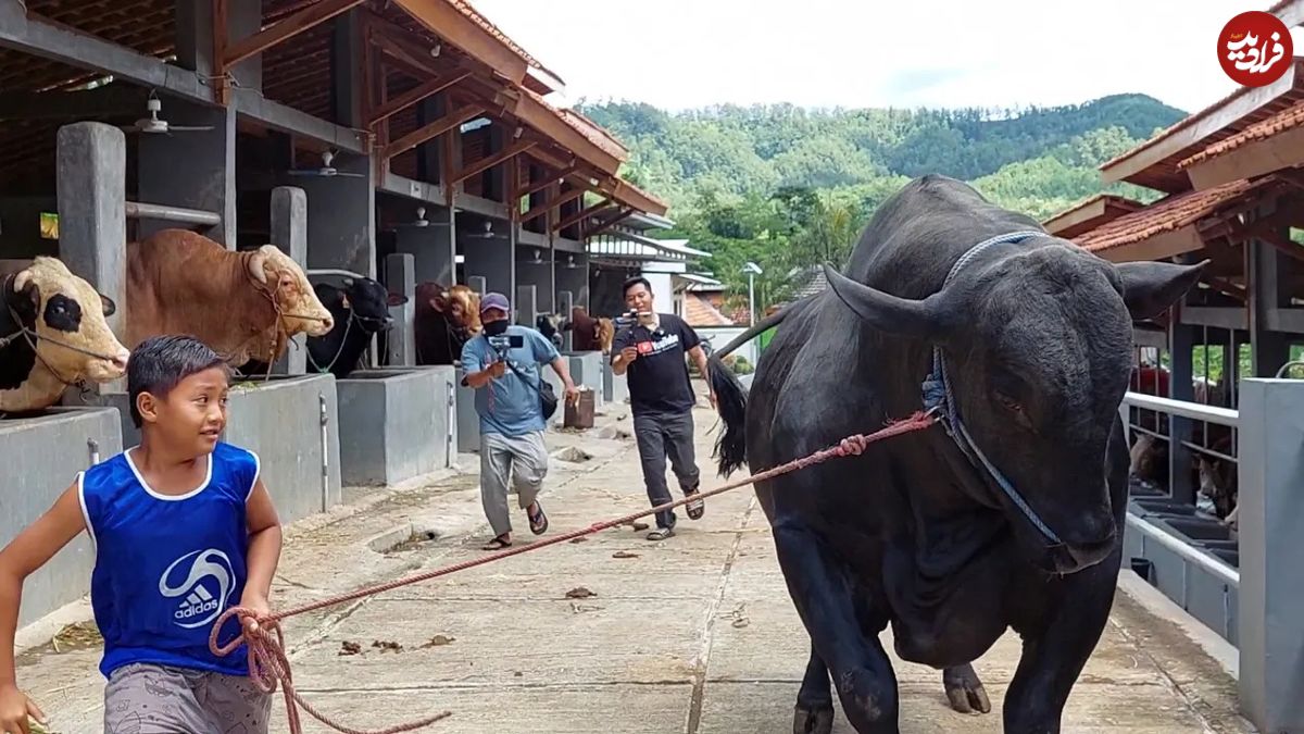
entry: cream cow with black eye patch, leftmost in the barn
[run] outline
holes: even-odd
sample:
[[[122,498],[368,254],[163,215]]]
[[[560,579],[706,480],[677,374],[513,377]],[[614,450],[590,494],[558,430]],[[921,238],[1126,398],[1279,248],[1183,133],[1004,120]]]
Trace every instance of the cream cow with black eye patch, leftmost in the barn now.
[[[60,260],[37,257],[0,290],[0,413],[43,410],[80,380],[126,372],[126,347],[104,320],[116,304]]]

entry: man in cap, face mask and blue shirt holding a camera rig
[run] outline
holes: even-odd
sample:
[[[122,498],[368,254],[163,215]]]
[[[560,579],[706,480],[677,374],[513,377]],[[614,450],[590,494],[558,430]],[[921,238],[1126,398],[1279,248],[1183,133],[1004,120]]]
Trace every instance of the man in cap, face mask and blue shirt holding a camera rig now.
[[[566,362],[557,347],[528,327],[511,324],[507,296],[488,293],[480,300],[484,330],[462,347],[466,384],[476,389],[480,414],[480,502],[494,538],[484,550],[511,545],[511,512],[507,508],[507,478],[529,517],[536,535],[548,530],[548,516],[539,504],[539,490],[548,475],[542,407],[539,385],[541,364],[550,364],[562,379],[566,401],[579,400]]]

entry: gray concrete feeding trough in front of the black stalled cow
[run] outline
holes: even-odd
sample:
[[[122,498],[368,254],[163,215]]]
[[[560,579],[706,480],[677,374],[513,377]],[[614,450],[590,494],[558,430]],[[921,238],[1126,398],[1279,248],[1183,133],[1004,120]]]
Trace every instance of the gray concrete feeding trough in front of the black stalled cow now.
[[[336,381],[343,483],[396,485],[451,466],[455,384],[452,366],[359,370]]]

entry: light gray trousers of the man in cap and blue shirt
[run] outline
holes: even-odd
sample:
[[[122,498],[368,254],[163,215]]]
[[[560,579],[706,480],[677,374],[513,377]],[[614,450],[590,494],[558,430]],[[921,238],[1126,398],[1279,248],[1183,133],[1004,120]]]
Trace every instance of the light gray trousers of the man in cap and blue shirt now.
[[[546,475],[548,447],[542,431],[524,436],[480,434],[480,503],[494,537],[511,532],[507,487],[516,491],[516,502],[524,509],[539,496]]]

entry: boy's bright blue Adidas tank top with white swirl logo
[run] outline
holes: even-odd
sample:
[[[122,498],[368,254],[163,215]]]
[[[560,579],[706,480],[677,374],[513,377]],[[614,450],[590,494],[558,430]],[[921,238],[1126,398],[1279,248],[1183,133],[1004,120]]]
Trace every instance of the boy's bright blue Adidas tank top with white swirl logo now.
[[[90,592],[106,678],[133,662],[249,674],[244,646],[216,657],[209,633],[244,594],[245,502],[257,478],[258,456],[220,441],[207,478],[185,495],[154,492],[128,452],[78,474],[95,543]],[[231,619],[218,640],[239,635]]]

